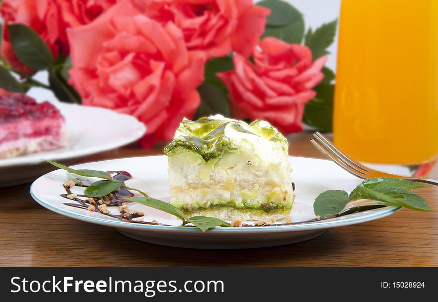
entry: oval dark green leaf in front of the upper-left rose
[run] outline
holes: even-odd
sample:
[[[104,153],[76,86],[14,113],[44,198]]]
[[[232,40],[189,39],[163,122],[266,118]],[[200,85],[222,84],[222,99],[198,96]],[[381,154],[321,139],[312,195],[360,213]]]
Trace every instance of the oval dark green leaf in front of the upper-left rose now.
[[[24,24],[9,24],[10,42],[18,59],[34,70],[49,69],[53,55],[47,44],[30,27]]]

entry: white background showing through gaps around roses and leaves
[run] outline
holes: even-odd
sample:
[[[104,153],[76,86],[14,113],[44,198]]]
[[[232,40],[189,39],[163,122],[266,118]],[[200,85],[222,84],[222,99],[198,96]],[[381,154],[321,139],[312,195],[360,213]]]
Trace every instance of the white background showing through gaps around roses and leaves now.
[[[323,23],[338,18],[339,15],[340,0],[287,0],[287,2],[303,13],[306,30],[309,26],[313,28],[319,27]],[[327,66],[333,70],[335,70],[336,66],[336,48],[337,41],[335,40],[329,48],[330,55],[327,62]],[[47,83],[47,74],[45,72],[38,73],[36,78],[43,83]],[[50,91],[41,88],[32,88],[28,94],[38,101],[56,100]]]

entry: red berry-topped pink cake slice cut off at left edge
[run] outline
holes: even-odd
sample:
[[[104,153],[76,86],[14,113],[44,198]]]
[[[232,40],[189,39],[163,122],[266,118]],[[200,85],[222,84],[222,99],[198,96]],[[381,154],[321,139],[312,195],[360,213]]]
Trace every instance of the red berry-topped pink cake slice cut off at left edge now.
[[[0,90],[0,158],[65,146],[65,120],[50,102]]]

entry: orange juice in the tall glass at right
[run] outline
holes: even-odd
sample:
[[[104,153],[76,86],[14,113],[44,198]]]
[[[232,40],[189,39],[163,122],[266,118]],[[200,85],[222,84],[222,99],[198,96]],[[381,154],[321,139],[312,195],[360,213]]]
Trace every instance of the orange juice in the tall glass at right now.
[[[369,163],[438,153],[438,0],[342,0],[334,143]]]

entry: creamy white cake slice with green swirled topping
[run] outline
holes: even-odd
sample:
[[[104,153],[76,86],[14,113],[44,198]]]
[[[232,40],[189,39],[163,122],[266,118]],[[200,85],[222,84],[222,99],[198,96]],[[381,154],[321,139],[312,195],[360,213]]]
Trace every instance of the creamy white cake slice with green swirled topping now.
[[[288,143],[266,121],[185,119],[164,152],[170,203],[186,214],[268,220],[291,211]]]

